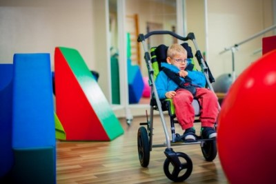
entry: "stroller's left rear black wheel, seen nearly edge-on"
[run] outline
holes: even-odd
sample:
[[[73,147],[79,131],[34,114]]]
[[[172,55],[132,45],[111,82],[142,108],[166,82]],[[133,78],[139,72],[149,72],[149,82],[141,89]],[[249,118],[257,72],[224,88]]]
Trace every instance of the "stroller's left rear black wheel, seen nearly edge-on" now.
[[[139,127],[137,134],[139,161],[142,167],[148,167],[150,162],[150,144],[146,127]]]

